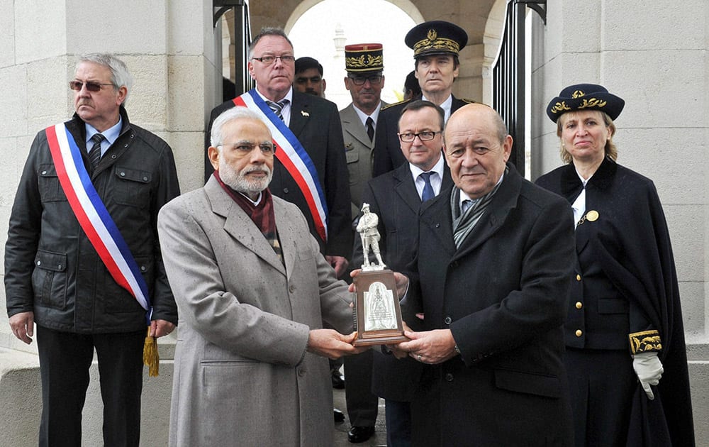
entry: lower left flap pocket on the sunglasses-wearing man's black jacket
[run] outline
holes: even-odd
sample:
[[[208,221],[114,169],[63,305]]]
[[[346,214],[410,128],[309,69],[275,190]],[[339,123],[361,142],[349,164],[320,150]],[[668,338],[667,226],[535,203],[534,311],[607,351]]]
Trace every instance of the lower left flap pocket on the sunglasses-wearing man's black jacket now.
[[[35,302],[63,310],[67,305],[67,254],[37,250],[32,288]]]

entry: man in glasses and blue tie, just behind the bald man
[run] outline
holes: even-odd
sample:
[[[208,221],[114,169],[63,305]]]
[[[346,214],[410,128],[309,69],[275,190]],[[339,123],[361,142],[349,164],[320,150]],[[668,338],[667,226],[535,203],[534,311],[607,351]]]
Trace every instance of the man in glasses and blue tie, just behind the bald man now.
[[[415,257],[421,203],[453,183],[442,156],[443,116],[443,109],[429,101],[406,104],[398,121],[398,138],[407,162],[370,180],[362,193],[369,209],[379,216],[379,249],[391,270],[406,270]],[[352,264],[359,267],[362,260],[362,243],[355,239]],[[411,326],[418,327],[413,321]],[[411,446],[409,402],[418,388],[421,365],[377,349],[372,353],[372,391],[385,399],[387,445]]]

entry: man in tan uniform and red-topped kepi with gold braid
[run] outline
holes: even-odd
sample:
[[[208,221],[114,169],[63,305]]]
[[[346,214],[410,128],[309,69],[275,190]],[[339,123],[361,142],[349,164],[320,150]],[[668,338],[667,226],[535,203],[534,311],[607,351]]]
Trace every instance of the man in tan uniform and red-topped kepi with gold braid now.
[[[362,187],[372,178],[372,149],[384,87],[384,51],[381,43],[345,46],[345,88],[352,102],[340,111],[345,157],[350,174],[352,219],[362,208]],[[372,394],[372,351],[345,358],[345,399],[352,427],[352,443],[364,442],[374,434],[379,399]]]

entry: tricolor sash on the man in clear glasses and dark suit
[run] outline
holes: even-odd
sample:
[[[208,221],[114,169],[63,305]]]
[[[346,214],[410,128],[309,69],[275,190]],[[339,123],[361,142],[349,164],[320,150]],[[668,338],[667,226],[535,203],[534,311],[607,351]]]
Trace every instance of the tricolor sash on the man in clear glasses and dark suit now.
[[[251,89],[249,92],[233,99],[236,106],[247,107],[261,116],[271,131],[273,142],[277,147],[276,158],[286,168],[298,184],[298,188],[306,198],[308,209],[315,222],[316,231],[323,241],[328,241],[328,205],[325,194],[320,187],[318,171],[313,160],[298,141],[291,129],[286,126],[269,108],[266,101]]]

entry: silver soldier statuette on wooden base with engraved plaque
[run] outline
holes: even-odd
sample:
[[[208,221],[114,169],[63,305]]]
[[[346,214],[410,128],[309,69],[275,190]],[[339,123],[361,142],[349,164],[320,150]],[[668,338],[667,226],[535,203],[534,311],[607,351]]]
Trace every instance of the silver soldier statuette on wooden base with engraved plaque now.
[[[403,335],[401,307],[396,293],[396,281],[386,268],[379,253],[379,217],[369,212],[369,204],[362,204],[362,216],[357,232],[362,238],[362,272],[354,277],[357,297],[354,299],[354,346],[384,345],[408,340]],[[376,263],[369,261],[372,250]]]

